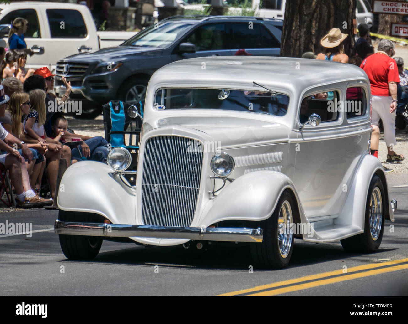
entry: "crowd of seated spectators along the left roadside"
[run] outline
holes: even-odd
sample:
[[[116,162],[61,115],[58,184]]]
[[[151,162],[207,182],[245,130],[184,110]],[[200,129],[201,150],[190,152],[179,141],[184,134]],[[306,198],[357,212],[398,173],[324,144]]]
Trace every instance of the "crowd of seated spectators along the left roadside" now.
[[[31,208],[53,204],[61,159],[67,167],[86,159],[106,163],[109,145],[100,136],[74,134],[68,128],[64,113],[57,112],[54,105],[55,74],[47,67],[25,68],[27,57],[33,55],[24,41],[26,30],[27,20],[16,18],[9,34],[9,51],[0,47],[0,172],[9,171],[18,206]],[[62,97],[65,102],[71,83],[62,79],[67,88]],[[80,138],[82,144],[71,150],[65,144],[73,137]],[[43,175],[49,184],[48,197],[41,192]]]

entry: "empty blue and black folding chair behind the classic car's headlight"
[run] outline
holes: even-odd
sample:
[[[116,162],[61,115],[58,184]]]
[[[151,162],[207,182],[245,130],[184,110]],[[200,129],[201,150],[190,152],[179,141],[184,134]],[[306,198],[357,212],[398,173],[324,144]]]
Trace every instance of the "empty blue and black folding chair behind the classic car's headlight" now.
[[[114,147],[124,147],[131,153],[132,163],[128,170],[137,169],[137,155],[139,152],[140,131],[142,120],[136,116],[131,118],[128,114],[129,107],[136,106],[143,116],[142,103],[124,103],[120,100],[113,100],[103,105],[103,119],[105,127],[105,140]],[[135,177],[129,176],[129,182],[134,182]]]

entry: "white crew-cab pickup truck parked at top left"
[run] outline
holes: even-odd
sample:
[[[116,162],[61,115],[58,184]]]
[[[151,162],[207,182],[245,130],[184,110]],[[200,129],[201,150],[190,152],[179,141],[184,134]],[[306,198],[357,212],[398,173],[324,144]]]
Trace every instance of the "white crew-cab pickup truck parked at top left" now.
[[[27,67],[48,66],[78,52],[118,46],[136,32],[97,31],[91,11],[82,4],[59,2],[11,2],[0,4],[0,37],[7,43],[7,26],[17,18],[28,20],[24,39],[36,55],[27,59]],[[4,37],[3,37],[4,36]],[[0,44],[0,46],[4,46]]]

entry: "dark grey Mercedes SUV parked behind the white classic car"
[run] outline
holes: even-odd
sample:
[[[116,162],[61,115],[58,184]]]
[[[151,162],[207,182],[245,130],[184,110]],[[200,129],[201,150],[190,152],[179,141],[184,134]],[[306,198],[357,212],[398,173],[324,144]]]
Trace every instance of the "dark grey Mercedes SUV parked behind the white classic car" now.
[[[158,68],[181,59],[234,55],[278,56],[282,20],[228,16],[176,16],[154,24],[115,48],[66,57],[57,63],[55,93],[64,94],[62,77],[71,81],[71,99],[95,106],[82,118],[100,114],[114,99],[144,101],[146,86]]]

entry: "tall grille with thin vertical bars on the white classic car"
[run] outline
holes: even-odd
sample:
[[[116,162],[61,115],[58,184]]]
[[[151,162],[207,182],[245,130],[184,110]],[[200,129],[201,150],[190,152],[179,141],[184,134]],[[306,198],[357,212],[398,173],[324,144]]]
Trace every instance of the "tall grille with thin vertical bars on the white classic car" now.
[[[194,142],[179,136],[157,136],[146,141],[142,176],[144,225],[191,225],[203,160],[202,152],[189,152]]]

